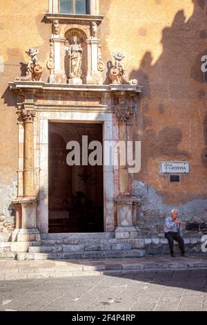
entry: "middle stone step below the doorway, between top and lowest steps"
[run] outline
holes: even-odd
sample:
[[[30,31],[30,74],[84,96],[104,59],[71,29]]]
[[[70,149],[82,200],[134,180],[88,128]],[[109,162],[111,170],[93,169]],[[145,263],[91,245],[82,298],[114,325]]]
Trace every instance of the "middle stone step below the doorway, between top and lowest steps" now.
[[[48,253],[48,252],[90,252],[90,251],[102,251],[102,250],[131,250],[132,245],[130,243],[115,243],[115,244],[97,244],[86,243],[78,245],[42,245],[39,247],[30,247],[29,253]]]

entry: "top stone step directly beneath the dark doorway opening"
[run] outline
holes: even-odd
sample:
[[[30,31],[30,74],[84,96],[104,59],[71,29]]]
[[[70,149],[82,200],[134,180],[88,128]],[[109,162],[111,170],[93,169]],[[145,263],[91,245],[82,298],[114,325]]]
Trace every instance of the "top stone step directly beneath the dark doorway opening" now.
[[[84,232],[84,233],[68,233],[68,234],[41,234],[41,239],[52,241],[75,241],[75,240],[92,240],[92,239],[112,239],[115,238],[114,232]]]

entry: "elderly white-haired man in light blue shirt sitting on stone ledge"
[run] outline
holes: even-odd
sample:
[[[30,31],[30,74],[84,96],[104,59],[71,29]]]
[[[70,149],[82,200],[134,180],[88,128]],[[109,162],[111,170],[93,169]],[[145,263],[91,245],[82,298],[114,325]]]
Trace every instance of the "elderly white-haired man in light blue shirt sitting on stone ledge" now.
[[[182,237],[181,222],[177,221],[177,216],[179,214],[178,210],[172,210],[171,216],[168,216],[164,225],[164,233],[166,239],[168,239],[168,244],[170,246],[170,255],[175,257],[174,254],[174,241],[179,243],[179,248],[181,250],[181,255],[185,256],[185,244]]]

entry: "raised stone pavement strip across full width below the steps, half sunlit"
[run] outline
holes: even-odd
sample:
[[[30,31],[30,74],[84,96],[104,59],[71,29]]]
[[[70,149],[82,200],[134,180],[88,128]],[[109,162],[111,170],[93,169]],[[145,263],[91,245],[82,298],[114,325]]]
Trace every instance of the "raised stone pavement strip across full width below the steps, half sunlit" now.
[[[168,255],[126,259],[77,259],[64,261],[0,260],[0,280],[39,279],[121,275],[150,270],[186,270],[207,268],[207,254],[188,257]]]

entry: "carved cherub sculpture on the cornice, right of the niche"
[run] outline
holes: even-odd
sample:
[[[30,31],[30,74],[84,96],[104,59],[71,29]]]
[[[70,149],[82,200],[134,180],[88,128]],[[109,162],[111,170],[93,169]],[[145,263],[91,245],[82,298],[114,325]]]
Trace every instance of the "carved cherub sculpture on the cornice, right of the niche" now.
[[[126,70],[124,68],[124,64],[121,62],[124,59],[124,55],[120,52],[113,53],[113,57],[115,58],[115,64],[112,65],[109,74],[112,84],[137,85],[138,81],[136,79],[128,80],[128,77],[126,76]]]

